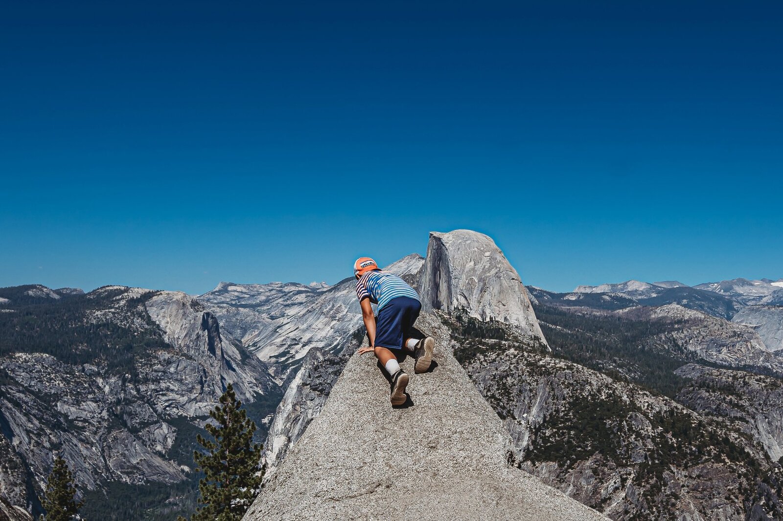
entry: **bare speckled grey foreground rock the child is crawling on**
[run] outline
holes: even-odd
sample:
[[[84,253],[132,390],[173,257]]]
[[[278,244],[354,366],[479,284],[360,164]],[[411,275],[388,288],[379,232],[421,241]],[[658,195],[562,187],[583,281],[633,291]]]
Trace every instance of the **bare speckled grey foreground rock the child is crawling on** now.
[[[605,519],[508,465],[511,438],[433,314],[437,367],[391,408],[373,358],[352,356],[323,411],[244,519]]]

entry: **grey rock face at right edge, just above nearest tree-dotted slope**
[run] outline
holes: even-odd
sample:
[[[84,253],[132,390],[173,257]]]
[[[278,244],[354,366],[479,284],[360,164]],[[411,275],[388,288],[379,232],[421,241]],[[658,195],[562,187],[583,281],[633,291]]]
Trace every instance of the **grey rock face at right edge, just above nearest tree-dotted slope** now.
[[[677,401],[694,411],[729,419],[751,434],[772,461],[783,458],[783,381],[743,371],[687,364],[677,375],[690,383]]]

